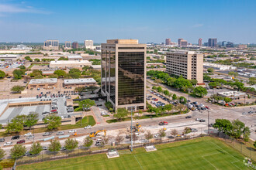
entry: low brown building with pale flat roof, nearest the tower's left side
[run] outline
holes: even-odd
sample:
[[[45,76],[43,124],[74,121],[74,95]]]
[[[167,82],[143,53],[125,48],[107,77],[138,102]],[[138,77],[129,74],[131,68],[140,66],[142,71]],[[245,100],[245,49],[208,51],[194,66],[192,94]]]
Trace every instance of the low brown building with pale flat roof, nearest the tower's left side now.
[[[64,87],[88,87],[96,84],[97,82],[93,78],[64,80]]]

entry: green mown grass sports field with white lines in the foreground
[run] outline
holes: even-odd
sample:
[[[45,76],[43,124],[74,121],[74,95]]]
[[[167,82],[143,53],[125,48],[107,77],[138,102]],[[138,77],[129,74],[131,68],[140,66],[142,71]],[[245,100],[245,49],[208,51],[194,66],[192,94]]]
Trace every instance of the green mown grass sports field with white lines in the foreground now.
[[[157,151],[144,148],[119,151],[119,158],[106,154],[18,166],[17,169],[248,169],[244,156],[215,138],[156,145]]]

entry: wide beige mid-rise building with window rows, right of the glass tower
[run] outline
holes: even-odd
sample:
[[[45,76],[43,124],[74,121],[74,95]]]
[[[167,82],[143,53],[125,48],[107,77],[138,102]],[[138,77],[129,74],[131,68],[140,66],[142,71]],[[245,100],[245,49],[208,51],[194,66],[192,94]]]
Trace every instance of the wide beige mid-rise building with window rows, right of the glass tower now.
[[[203,83],[203,56],[202,53],[192,51],[167,53],[166,72],[176,76],[182,75],[185,79],[197,80]]]

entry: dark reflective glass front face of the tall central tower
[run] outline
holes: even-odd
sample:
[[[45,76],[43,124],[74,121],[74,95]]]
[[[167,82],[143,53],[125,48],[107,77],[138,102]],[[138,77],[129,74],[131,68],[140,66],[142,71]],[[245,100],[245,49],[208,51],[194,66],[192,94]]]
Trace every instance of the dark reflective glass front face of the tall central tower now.
[[[118,53],[118,105],[144,103],[144,52]]]

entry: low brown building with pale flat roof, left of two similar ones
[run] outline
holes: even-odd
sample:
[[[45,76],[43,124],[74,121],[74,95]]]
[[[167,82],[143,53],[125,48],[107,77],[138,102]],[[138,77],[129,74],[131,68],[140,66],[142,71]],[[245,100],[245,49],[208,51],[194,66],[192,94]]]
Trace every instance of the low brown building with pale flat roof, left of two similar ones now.
[[[32,79],[29,81],[29,84],[28,84],[28,89],[31,89],[31,88],[55,89],[56,87],[57,87],[57,78]]]

